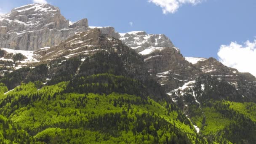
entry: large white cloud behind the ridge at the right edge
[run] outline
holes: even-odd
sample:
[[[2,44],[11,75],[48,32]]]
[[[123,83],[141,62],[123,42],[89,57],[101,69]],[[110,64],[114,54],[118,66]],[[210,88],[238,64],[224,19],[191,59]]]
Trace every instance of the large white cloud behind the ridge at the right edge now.
[[[228,67],[238,69],[240,72],[250,72],[256,76],[256,40],[246,41],[243,45],[231,42],[230,45],[221,45],[219,61]]]

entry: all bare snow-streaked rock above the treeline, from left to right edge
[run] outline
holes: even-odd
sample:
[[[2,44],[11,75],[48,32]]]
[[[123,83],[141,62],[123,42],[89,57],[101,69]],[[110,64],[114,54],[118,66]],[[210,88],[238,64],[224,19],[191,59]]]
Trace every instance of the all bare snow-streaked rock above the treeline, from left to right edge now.
[[[226,67],[214,58],[184,57],[164,34],[147,34],[144,31],[118,33],[114,27],[88,27],[87,19],[72,23],[61,15],[59,8],[49,4],[25,5],[0,16],[0,47],[5,51],[0,60],[13,61],[13,56],[18,53],[6,48],[30,50],[24,52],[25,58],[14,69],[60,57],[69,59],[80,54],[90,55],[106,45],[107,41],[99,40],[99,37],[108,37],[110,41],[119,39],[140,53],[144,67],[170,95],[178,89],[182,93],[188,83],[193,85],[190,82],[202,74],[225,80],[238,91],[245,91],[245,88],[240,90],[237,86],[241,81],[244,85],[255,85],[256,82],[253,75]],[[117,46],[112,44],[113,48]],[[13,64],[2,72],[14,70],[11,67]],[[252,93],[246,93],[241,96],[252,96]]]

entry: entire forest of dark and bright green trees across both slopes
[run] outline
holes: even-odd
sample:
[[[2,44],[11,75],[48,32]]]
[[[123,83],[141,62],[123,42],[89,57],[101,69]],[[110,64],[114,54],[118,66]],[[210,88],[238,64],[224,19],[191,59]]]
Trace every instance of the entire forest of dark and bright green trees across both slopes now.
[[[242,99],[232,85],[208,75],[183,97],[171,101],[125,45],[6,71],[0,77],[0,143],[255,143],[253,98]]]

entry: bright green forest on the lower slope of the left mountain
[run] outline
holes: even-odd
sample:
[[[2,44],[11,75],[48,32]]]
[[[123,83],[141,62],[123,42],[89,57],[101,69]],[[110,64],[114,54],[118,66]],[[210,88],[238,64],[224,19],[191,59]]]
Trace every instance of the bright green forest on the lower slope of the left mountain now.
[[[1,143],[207,143],[175,104],[133,91],[67,93],[69,82],[0,89]]]

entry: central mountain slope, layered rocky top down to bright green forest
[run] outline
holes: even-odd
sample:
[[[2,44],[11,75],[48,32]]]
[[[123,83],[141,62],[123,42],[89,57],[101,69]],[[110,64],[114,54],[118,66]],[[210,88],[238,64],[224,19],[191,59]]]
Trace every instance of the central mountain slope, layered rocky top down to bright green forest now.
[[[58,52],[65,48],[76,50],[65,58]],[[1,142],[207,143],[150,78],[143,58],[120,40],[91,29],[37,52],[35,68],[0,79],[0,115],[9,125]],[[11,136],[11,127],[22,135]]]

